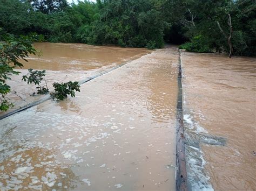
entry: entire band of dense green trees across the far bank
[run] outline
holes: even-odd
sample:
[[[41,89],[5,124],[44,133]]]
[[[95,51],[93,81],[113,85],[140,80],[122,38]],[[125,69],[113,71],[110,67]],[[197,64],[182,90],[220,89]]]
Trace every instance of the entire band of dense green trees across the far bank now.
[[[255,10],[252,0],[0,0],[0,27],[50,42],[153,49],[165,40],[187,42],[181,47],[193,52],[228,52],[230,14],[234,54],[255,55]]]

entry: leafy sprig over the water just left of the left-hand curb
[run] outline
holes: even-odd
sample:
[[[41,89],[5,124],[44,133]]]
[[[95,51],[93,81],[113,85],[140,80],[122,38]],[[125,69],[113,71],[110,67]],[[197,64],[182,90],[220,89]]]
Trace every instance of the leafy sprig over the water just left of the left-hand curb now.
[[[48,94],[49,89],[47,87],[46,80],[43,78],[43,76],[45,76],[45,70],[43,70],[43,71],[39,71],[39,70],[33,71],[33,69],[29,69],[29,73],[22,76],[22,80],[24,82],[28,81],[28,84],[29,83],[30,84],[35,83],[37,85],[37,87],[36,87],[37,88],[37,94]],[[41,86],[42,80],[45,81],[45,86]]]

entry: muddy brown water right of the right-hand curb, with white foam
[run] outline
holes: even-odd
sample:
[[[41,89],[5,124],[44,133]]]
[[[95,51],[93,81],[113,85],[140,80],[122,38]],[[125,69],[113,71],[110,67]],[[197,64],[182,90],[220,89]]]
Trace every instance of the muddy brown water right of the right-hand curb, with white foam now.
[[[200,144],[203,175],[215,190],[255,190],[256,59],[185,52],[181,60],[186,131],[226,139]],[[194,159],[188,164],[196,172]],[[198,178],[193,187],[204,188]]]

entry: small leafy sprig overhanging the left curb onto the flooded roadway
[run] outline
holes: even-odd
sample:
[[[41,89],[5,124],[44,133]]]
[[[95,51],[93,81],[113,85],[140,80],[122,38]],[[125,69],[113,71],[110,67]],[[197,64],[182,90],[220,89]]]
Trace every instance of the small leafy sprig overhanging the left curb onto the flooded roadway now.
[[[79,82],[66,82],[66,83],[53,83],[52,86],[55,89],[54,93],[51,93],[53,98],[58,100],[64,100],[68,95],[75,97],[75,91],[80,91]]]

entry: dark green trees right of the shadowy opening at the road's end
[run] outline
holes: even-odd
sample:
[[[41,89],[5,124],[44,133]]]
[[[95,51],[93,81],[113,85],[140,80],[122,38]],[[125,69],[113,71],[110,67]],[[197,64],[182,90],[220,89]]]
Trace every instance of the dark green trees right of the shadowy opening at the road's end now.
[[[184,19],[184,36],[190,40],[191,44],[185,44],[190,51],[205,52],[210,51],[228,52],[228,44],[225,36],[221,32],[220,24],[226,36],[230,35],[228,25],[228,14],[231,15],[233,33],[231,42],[236,55],[256,54],[256,4],[251,0],[238,1],[189,1],[187,6],[187,16]],[[195,40],[201,37],[200,42]],[[202,42],[204,41],[204,43]],[[198,48],[198,43],[202,46]],[[184,47],[181,46],[181,47]],[[202,51],[203,50],[203,51]],[[208,51],[206,51],[208,52]]]

